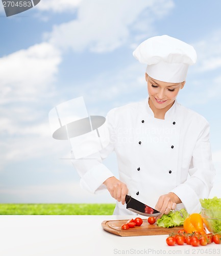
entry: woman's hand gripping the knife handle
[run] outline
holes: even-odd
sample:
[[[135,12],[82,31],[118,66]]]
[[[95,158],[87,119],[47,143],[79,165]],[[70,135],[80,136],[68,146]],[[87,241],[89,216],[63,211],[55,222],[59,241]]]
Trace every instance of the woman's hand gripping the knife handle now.
[[[110,177],[103,183],[114,199],[125,204],[125,197],[128,194],[128,187],[125,183],[122,183],[115,177]]]

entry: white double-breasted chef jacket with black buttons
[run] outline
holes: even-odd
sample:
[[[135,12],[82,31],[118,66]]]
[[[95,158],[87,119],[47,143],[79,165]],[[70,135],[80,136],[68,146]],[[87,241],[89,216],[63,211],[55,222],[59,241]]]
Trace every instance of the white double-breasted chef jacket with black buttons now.
[[[177,209],[200,211],[199,199],[208,198],[215,175],[204,117],[175,101],[165,118],[157,119],[147,98],[111,110],[105,125],[108,146],[72,161],[81,187],[94,194],[106,189],[103,182],[114,175],[102,160],[115,151],[119,180],[127,184],[128,195],[155,207],[161,195],[173,192],[182,201]],[[121,202],[114,214],[134,215]]]

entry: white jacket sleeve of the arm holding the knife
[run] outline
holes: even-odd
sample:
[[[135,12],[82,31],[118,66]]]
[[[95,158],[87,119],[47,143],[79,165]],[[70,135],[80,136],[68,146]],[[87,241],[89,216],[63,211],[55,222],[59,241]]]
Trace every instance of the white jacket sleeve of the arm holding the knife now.
[[[105,147],[89,156],[71,160],[73,166],[80,175],[80,186],[93,194],[100,193],[102,190],[106,189],[106,186],[103,184],[103,182],[114,176],[111,170],[109,170],[102,163],[102,161],[107,158],[114,150],[113,122],[114,110],[111,110],[107,114],[106,121],[103,124],[103,129],[105,129],[107,132],[100,134],[100,136],[105,136],[105,138],[100,138],[107,142]],[[83,147],[83,141],[82,144],[78,144],[78,146]]]

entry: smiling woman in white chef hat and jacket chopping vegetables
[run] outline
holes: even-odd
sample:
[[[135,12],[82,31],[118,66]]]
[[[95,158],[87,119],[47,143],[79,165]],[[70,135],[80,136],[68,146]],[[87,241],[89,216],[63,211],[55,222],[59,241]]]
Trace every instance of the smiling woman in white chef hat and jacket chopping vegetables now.
[[[163,35],[145,40],[133,55],[147,65],[149,96],[108,113],[108,146],[91,160],[73,161],[81,186],[92,193],[108,189],[117,200],[116,215],[135,215],[126,209],[126,194],[162,214],[183,207],[199,212],[199,199],[209,196],[215,175],[209,124],[176,100],[197,59],[195,50]],[[102,163],[113,151],[118,179]]]

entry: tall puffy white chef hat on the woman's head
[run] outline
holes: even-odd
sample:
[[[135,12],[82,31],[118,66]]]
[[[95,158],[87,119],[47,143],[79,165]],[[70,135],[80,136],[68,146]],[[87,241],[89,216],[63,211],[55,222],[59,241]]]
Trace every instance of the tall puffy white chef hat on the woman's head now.
[[[148,65],[146,73],[152,78],[174,83],[185,81],[189,65],[197,60],[197,53],[192,46],[168,35],[143,41],[133,56]]]

